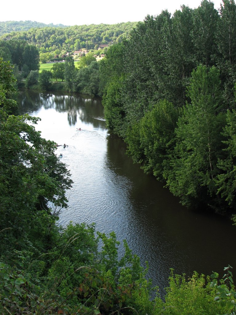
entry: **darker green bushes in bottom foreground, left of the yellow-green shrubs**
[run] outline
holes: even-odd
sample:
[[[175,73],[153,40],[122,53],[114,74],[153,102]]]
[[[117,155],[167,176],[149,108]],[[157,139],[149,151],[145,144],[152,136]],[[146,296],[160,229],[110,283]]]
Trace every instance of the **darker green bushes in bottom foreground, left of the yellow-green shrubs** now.
[[[114,232],[95,238],[93,225],[70,224],[53,233],[50,252],[45,248],[34,260],[33,253],[14,251],[8,255],[10,265],[0,264],[3,307],[22,314],[60,309],[69,314],[153,313],[151,283],[144,278],[147,270],[126,242],[125,255],[118,261]],[[98,252],[100,238],[103,246]]]

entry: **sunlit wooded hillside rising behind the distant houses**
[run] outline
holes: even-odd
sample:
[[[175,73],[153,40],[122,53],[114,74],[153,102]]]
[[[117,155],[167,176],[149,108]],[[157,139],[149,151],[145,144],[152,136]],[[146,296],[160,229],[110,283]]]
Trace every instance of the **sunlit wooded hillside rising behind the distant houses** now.
[[[0,39],[25,40],[37,47],[40,60],[47,61],[55,56],[79,49],[95,49],[100,44],[119,43],[128,38],[137,22],[118,24],[75,25],[69,27],[31,28],[28,31],[11,32]],[[101,52],[101,51],[100,51]]]

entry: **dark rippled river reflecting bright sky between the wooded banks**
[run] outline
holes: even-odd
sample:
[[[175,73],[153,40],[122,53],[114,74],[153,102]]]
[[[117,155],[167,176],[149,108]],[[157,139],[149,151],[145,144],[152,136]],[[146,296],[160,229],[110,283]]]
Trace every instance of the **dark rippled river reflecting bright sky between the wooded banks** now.
[[[107,130],[100,99],[22,90],[19,101],[22,113],[42,119],[36,125],[42,137],[61,145],[56,154],[62,153],[72,174],[69,207],[61,210],[59,224],[95,222],[100,232],[115,231],[121,254],[126,239],[142,265],[149,262],[148,276],[161,294],[170,268],[191,276],[236,267],[232,221],[186,209],[133,164],[124,142]]]

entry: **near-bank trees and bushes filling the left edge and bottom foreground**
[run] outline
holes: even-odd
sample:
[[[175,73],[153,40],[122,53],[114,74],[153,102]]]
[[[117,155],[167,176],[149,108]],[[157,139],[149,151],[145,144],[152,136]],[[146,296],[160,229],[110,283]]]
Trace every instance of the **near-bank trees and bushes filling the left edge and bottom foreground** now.
[[[171,271],[164,302],[145,278],[148,265],[140,265],[125,241],[118,259],[114,232],[95,233],[86,224],[57,226],[73,184],[70,172],[55,154],[56,143],[35,130],[40,118],[15,114],[14,83],[12,67],[0,58],[1,314],[235,312],[230,267],[220,284],[217,273],[205,278],[194,272],[187,280]]]

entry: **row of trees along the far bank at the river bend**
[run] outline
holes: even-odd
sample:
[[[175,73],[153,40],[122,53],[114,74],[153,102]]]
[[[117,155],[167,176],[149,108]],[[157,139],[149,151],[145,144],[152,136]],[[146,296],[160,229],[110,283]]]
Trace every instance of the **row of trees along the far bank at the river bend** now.
[[[14,65],[14,76],[18,87],[40,90],[65,90],[88,95],[99,95],[99,62],[93,53],[80,57],[79,66],[75,67],[72,56],[65,62],[53,64],[52,71],[39,72],[38,49],[25,40],[9,39],[0,41],[0,57]],[[25,79],[22,82],[22,79]],[[65,80],[65,84],[52,84],[52,79]]]

